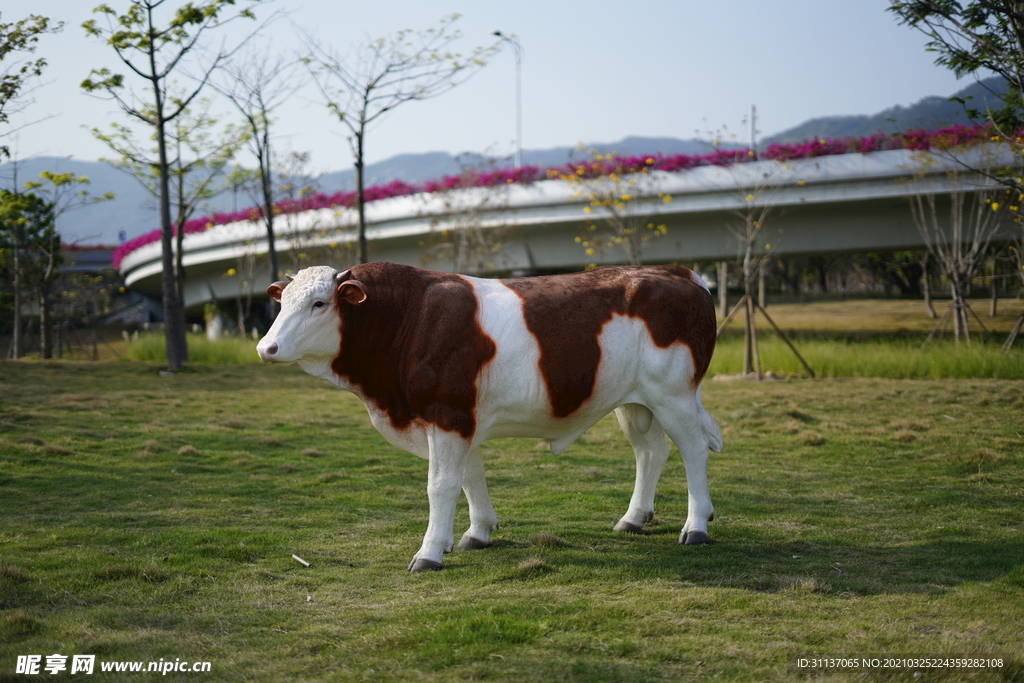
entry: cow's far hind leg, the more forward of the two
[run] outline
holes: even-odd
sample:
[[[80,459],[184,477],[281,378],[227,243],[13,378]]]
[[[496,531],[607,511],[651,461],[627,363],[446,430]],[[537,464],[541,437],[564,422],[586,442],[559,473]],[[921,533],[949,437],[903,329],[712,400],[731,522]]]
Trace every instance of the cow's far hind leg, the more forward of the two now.
[[[620,405],[615,409],[615,417],[637,461],[633,498],[626,514],[615,524],[615,530],[640,533],[643,525],[654,517],[654,489],[669,459],[669,444],[665,440],[665,430],[646,407]]]

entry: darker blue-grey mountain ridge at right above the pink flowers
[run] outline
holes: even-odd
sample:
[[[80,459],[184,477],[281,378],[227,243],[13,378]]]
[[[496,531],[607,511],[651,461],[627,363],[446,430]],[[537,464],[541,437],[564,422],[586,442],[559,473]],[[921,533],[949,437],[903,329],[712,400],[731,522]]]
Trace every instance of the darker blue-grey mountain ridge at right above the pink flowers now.
[[[1006,89],[998,77],[972,83],[956,92],[954,97],[968,99],[968,106],[984,110],[986,103],[999,105],[998,93]],[[948,97],[925,97],[909,106],[891,106],[878,114],[866,116],[835,116],[810,119],[771,137],[764,143],[798,142],[813,137],[857,137],[874,133],[894,133],[913,128],[935,129],[953,124],[970,124],[964,105]]]

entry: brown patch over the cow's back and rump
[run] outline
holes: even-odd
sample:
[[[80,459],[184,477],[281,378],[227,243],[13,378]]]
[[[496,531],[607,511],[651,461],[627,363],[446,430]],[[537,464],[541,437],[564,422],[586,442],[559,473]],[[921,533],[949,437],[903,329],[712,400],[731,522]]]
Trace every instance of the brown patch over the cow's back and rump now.
[[[606,266],[502,282],[522,299],[555,417],[568,417],[593,393],[601,361],[598,336],[616,313],[642,319],[660,348],[685,344],[693,355],[694,387],[708,372],[715,351],[715,303],[688,268]]]

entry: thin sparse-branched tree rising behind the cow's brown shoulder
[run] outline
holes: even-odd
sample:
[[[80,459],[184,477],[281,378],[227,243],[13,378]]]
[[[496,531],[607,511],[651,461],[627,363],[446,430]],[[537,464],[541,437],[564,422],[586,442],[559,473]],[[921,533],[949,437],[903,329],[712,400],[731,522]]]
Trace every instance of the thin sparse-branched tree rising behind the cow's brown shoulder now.
[[[489,47],[474,48],[468,57],[450,52],[461,35],[452,28],[458,19],[459,14],[452,14],[435,29],[399,31],[393,37],[379,38],[351,59],[339,56],[307,36],[311,48],[303,62],[328,110],[350,134],[360,263],[369,260],[362,177],[368,127],[404,102],[430,99],[464,83],[486,65],[501,45],[498,40]]]

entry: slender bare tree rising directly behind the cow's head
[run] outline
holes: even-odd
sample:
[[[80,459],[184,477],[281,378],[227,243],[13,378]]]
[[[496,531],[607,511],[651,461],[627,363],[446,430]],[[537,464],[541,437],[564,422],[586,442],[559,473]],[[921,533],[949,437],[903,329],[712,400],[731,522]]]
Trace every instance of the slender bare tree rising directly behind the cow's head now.
[[[245,120],[249,151],[256,158],[256,200],[266,226],[267,256],[270,260],[270,283],[281,280],[278,248],[274,241],[273,203],[276,200],[273,181],[273,136],[270,134],[271,114],[302,85],[296,78],[294,62],[284,57],[268,56],[265,50],[250,48],[238,59],[222,68],[224,78],[214,82],[214,88],[234,104]],[[270,319],[280,304],[270,300]]]

